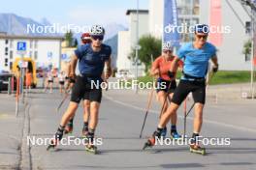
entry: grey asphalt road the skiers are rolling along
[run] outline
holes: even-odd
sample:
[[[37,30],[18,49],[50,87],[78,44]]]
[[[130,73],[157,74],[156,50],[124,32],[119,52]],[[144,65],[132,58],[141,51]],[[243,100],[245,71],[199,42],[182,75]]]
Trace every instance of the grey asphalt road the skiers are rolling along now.
[[[29,95],[28,136],[43,139],[53,136],[68,104],[65,102],[57,113],[56,107],[62,98],[56,91],[42,94],[36,90]],[[256,169],[255,101],[207,104],[202,135],[231,138],[231,145],[206,146],[208,155],[200,156],[189,153],[186,145],[155,146],[142,151],[146,136],[156,128],[159,111],[154,100],[144,138],[139,139],[146,99],[146,94],[134,95],[129,91],[105,93],[96,130],[96,136],[103,140],[103,145],[98,146],[99,155],[86,153],[82,145],[58,146],[56,151],[48,152],[45,145],[30,144],[21,162],[31,169]],[[81,113],[80,107],[72,134],[76,137],[81,133]],[[182,108],[178,115],[178,131],[182,133]],[[188,135],[192,132],[192,115],[187,121]]]

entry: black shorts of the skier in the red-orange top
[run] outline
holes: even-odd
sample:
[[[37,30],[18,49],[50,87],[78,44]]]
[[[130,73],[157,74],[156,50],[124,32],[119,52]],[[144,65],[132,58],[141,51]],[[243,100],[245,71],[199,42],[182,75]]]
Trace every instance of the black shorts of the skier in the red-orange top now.
[[[170,83],[171,83],[171,86],[170,86]],[[156,89],[157,93],[160,91],[164,91],[165,93],[172,94],[175,92],[175,90],[176,90],[176,80],[168,81],[162,78],[157,79],[157,89]]]

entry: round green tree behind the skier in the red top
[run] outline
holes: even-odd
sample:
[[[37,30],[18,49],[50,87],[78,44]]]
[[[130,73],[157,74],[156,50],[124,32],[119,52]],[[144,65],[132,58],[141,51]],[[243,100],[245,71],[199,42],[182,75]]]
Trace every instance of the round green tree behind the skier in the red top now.
[[[148,71],[151,66],[151,56],[153,59],[156,59],[161,55],[162,41],[151,35],[145,35],[139,40],[139,45],[141,46],[139,50],[139,60],[144,64],[145,71]],[[135,61],[135,47],[132,49],[130,56],[130,59]]]

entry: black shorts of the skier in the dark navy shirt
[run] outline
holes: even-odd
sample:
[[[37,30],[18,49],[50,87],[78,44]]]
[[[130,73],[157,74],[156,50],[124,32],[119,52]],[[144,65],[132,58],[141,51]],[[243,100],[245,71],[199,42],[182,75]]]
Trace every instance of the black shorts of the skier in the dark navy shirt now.
[[[71,101],[80,103],[80,99],[101,102],[102,89],[91,87],[90,81],[85,77],[78,76],[72,88]]]

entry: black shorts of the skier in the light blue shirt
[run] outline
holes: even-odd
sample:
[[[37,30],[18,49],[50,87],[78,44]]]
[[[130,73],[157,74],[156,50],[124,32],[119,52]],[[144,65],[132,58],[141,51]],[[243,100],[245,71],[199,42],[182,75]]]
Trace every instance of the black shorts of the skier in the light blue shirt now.
[[[192,92],[194,102],[206,103],[206,81],[189,81],[180,80],[176,87],[176,91],[172,102],[180,105],[181,102],[186,99],[187,95]]]

